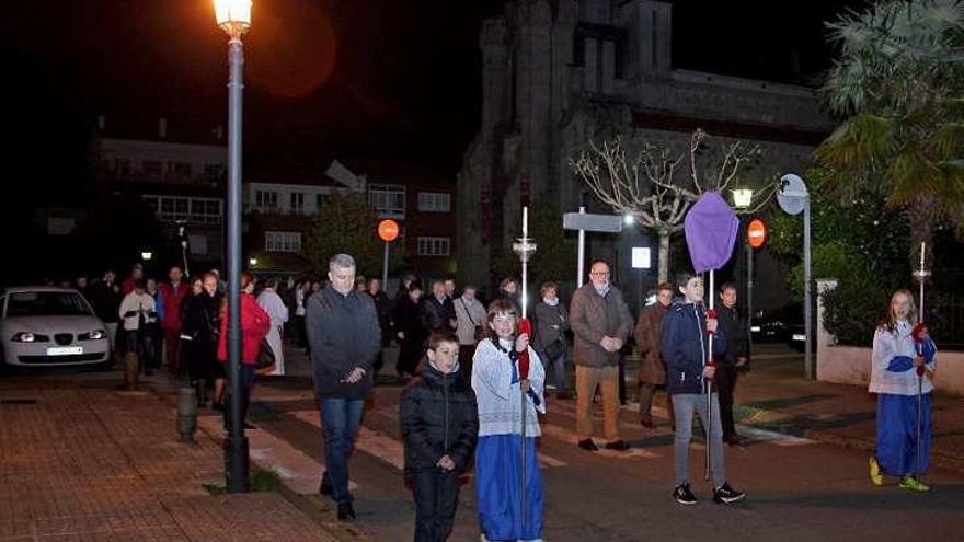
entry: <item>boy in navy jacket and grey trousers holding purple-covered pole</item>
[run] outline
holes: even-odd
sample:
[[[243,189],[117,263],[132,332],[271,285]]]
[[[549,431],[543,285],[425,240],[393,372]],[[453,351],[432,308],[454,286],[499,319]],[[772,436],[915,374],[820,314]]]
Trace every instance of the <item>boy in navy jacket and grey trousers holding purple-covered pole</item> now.
[[[703,308],[703,280],[699,275],[681,273],[676,285],[684,299],[673,303],[663,315],[659,337],[661,353],[666,361],[666,391],[673,400],[676,415],[674,466],[676,489],[673,498],[681,505],[697,503],[689,487],[689,442],[692,438],[693,411],[698,412],[703,428],[709,429],[707,446],[710,447],[713,473],[713,501],[730,504],[743,500],[745,495],[726,482],[726,464],[723,458],[723,429],[720,424],[720,399],[716,390],[710,395],[707,412],[707,385],[713,382],[716,367],[712,357],[726,354],[726,337],[718,327],[715,318],[708,318]],[[710,334],[714,335],[710,354]]]

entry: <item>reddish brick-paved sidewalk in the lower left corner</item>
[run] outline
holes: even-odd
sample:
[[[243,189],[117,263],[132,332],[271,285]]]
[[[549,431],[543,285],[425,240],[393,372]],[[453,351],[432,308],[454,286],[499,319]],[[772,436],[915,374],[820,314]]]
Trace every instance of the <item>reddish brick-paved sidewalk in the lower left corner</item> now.
[[[0,380],[0,541],[352,540],[300,497],[211,495],[222,451],[204,433],[177,442],[160,379],[76,377]]]

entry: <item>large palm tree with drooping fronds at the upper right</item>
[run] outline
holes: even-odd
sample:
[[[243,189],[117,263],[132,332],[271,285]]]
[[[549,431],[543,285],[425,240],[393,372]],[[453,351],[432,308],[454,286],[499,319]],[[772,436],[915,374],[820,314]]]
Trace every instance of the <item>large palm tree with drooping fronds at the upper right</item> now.
[[[916,264],[937,226],[964,234],[964,3],[887,0],[828,27],[841,54],[824,96],[848,118],[815,153],[822,188],[906,210]]]

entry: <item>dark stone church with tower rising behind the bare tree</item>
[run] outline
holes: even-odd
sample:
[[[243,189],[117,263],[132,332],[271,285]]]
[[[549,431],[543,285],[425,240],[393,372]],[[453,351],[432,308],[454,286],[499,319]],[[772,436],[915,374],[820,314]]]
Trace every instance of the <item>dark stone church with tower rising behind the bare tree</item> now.
[[[516,0],[484,22],[481,129],[458,182],[463,281],[490,284],[524,203],[577,209],[584,185],[569,160],[590,139],[673,142],[702,128],[759,145],[776,173],[799,170],[833,129],[812,88],[674,68],[670,32],[672,4],[652,0]]]

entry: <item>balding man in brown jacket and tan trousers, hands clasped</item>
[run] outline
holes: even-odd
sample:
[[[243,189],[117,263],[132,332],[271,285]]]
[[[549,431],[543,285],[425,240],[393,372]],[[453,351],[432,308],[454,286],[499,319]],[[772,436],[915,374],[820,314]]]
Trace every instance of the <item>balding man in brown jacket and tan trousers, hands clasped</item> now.
[[[619,350],[632,330],[629,308],[609,282],[609,264],[601,260],[589,267],[589,282],[573,295],[570,326],[575,335],[576,433],[579,448],[596,451],[593,442],[593,397],[602,391],[606,448],[629,450],[619,436]]]

